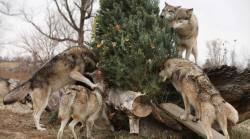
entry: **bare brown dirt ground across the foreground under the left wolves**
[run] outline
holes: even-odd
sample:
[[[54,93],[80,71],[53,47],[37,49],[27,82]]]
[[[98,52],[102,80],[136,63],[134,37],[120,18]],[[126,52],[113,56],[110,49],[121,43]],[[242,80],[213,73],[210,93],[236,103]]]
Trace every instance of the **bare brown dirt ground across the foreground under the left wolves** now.
[[[1,103],[1,102],[0,102]],[[0,139],[56,139],[60,128],[60,122],[48,123],[48,113],[43,112],[41,124],[45,125],[46,131],[38,131],[32,117],[32,111],[20,113],[13,108],[4,108],[0,105]],[[75,132],[79,139],[86,139],[86,131],[79,133],[79,125],[76,125]],[[93,130],[92,136],[96,139],[145,139],[142,137],[130,136],[128,131],[116,131],[111,133],[107,130]],[[68,127],[64,129],[63,139],[71,139]]]

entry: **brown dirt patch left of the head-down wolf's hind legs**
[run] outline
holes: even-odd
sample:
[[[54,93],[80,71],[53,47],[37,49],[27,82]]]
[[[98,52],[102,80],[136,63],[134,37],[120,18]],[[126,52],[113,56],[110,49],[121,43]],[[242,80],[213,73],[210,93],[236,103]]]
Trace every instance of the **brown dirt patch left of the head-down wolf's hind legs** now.
[[[32,113],[15,113],[7,109],[0,110],[1,139],[55,139],[59,124],[48,124],[47,114],[43,114],[41,123],[46,131],[38,131],[33,122]]]

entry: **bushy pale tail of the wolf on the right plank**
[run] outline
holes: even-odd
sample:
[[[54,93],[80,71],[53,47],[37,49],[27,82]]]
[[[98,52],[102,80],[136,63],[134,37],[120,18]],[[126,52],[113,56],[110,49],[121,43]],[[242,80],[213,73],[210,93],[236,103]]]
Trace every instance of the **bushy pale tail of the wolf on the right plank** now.
[[[231,104],[225,102],[222,103],[220,107],[223,115],[225,115],[228,120],[232,121],[234,124],[238,122],[239,120],[238,111]]]

